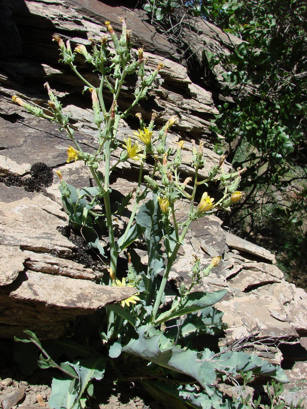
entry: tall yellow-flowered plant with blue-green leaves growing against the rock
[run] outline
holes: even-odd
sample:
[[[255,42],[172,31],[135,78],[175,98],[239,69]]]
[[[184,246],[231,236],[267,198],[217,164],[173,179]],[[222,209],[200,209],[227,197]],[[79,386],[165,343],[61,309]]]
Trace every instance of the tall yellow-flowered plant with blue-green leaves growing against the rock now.
[[[155,130],[155,113],[149,124],[145,124],[142,116],[136,114],[140,121],[139,130],[124,138],[124,143],[117,139],[120,119],[130,115],[132,108],[145,98],[147,90],[153,86],[154,79],[163,68],[162,63],[158,63],[153,72],[145,68],[147,59],[143,56],[143,49],[139,48],[137,52],[132,49],[131,30],[126,29],[123,18],[120,22],[120,38],[110,22],[106,21],[109,35],[90,38],[91,52],[84,45],[77,45],[73,51],[69,41],[65,44],[59,36],[53,38],[59,44],[63,63],[84,81],[84,93],[91,94],[99,143],[96,151],[85,152],[81,149],[69,123],[69,115],[63,112],[48,83],[45,83],[49,95],[48,109],[34,106],[16,96],[13,100],[33,115],[58,124],[70,139],[68,162],[83,161],[90,170],[96,186],[84,189],[75,189],[65,182],[61,171],[57,172],[63,208],[72,227],[108,265],[108,273],[101,285],[132,287],[135,294],[121,303],[106,306],[107,318],[97,324],[101,339],[99,346],[82,345],[78,349],[74,344],[72,362],[57,364],[30,331],[26,331],[29,339],[23,342],[34,342],[41,350],[39,366],[55,367],[62,372],[52,382],[49,400],[50,407],[56,409],[86,407],[95,392],[94,385],[95,388],[100,385],[93,381],[105,378],[110,382],[110,376],[115,385],[125,380],[142,380],[142,387],[147,392],[160,400],[173,402],[169,403],[172,407],[244,407],[245,398],[238,377],[243,378],[244,382],[251,380],[256,373],[273,376],[279,381],[285,377],[279,367],[260,360],[256,355],[230,351],[229,348],[212,352],[203,346],[196,347],[194,340],[198,335],[221,333],[223,330],[222,313],[213,305],[225,296],[226,291],[207,293],[194,290],[194,286],[218,265],[221,257],[212,258],[209,265],[201,265],[200,257],[195,254],[191,260],[192,268],[187,265],[189,284],[181,283],[177,295],[165,303],[167,279],[191,222],[211,214],[214,209],[227,209],[237,202],[242,197],[237,190],[242,171],[225,174],[222,166],[224,158],[221,157],[209,171],[208,177],[200,181],[198,172],[205,162],[203,146],[193,143],[191,165],[195,170],[194,176],[181,180],[178,169],[184,142],[180,141],[176,150],[167,148],[166,144],[169,129],[179,121],[177,116],[170,117],[160,130]],[[99,87],[93,86],[79,73],[74,65],[76,53],[81,54],[99,76]],[[138,85],[131,106],[122,110],[117,101],[128,75],[137,76]],[[113,101],[108,104],[106,90],[113,96]],[[119,159],[111,166],[111,155],[115,151]],[[144,163],[149,158],[154,163],[153,170],[150,175],[143,175]],[[110,174],[118,165],[131,160],[139,164],[138,184],[118,205],[118,209],[111,211]],[[198,205],[195,205],[197,189],[201,186],[203,191],[210,181],[219,182],[223,189],[222,198],[215,202],[204,192]],[[129,222],[115,240],[113,221],[132,198],[134,207]],[[176,202],[182,200],[190,202],[190,211],[185,220],[178,222]],[[140,201],[142,205],[139,205]],[[103,206],[99,207],[102,202]],[[102,227],[108,231],[109,243],[106,247],[99,241]],[[133,249],[133,243],[140,237],[146,243],[146,264],[141,262],[138,252]],[[118,271],[117,259],[124,249],[128,249],[125,252],[126,271]],[[67,348],[65,351],[69,355]],[[59,356],[58,351],[56,356]],[[235,402],[225,400],[219,391],[217,385],[224,381],[237,385],[239,398]]]

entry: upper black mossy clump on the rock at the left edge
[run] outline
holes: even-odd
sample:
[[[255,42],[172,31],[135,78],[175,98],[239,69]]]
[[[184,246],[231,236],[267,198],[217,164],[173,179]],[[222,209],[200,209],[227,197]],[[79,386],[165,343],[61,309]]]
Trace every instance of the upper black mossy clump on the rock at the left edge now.
[[[30,169],[30,176],[24,178],[19,175],[0,176],[0,182],[6,186],[23,187],[27,192],[38,192],[42,187],[49,187],[53,182],[52,168],[43,162],[34,163]]]

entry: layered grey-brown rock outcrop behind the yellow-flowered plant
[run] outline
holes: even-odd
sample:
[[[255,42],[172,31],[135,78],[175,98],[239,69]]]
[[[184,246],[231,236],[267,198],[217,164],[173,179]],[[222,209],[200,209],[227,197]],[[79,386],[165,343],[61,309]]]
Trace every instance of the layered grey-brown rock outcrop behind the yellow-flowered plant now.
[[[153,69],[160,61],[164,64],[148,99],[135,112],[142,112],[147,121],[156,112],[158,126],[171,115],[180,117],[168,143],[176,146],[180,139],[185,141],[183,177],[193,173],[192,139],[205,145],[206,163],[200,177],[205,178],[217,163],[218,155],[211,149],[216,136],[210,130],[217,109],[212,94],[193,83],[187,68],[181,64],[183,52],[172,45],[167,35],[156,32],[140,10],[111,7],[98,0],[5,0],[1,8],[5,38],[0,42],[3,57],[0,61],[0,336],[20,336],[26,329],[35,329],[41,338],[69,336],[77,317],[92,314],[106,303],[125,299],[134,290],[108,287],[106,293],[98,285],[104,269],[93,263],[80,241],[72,240],[67,231],[68,221],[55,172],[61,169],[67,182],[79,188],[93,183],[91,175],[79,162],[66,163],[69,142],[64,133],[14,104],[12,95],[46,107],[43,83],[48,81],[65,111],[72,113],[71,122],[79,144],[85,150],[96,148],[90,100],[82,95],[81,81],[58,62],[58,47],[51,41],[52,35],[69,39],[72,46],[89,45],[89,37],[106,33],[105,20],[110,20],[113,28],[119,30],[119,18],[123,16],[127,26],[133,29],[135,50],[144,46],[149,68]],[[202,49],[229,52],[238,41],[217,27],[200,23],[194,44],[200,47],[198,52]],[[88,74],[81,58],[77,64],[95,84],[97,78]],[[124,85],[117,101],[121,109],[130,105],[134,85],[133,80]],[[132,116],[120,121],[119,139],[133,135],[137,128],[138,121]],[[116,159],[114,156],[114,162]],[[146,166],[145,171],[149,171],[151,164]],[[224,166],[225,171],[230,169],[230,165]],[[112,176],[111,187],[119,197],[126,196],[135,186],[136,171],[137,166],[131,161]],[[185,202],[178,205],[177,214],[184,216],[187,205]],[[119,221],[124,222],[124,219]],[[221,224],[215,216],[194,222],[171,280],[176,285],[187,279],[193,253],[201,256],[203,265],[212,256],[221,255],[220,265],[201,283],[203,290],[228,291],[217,304],[227,324],[225,338],[219,343],[252,336],[251,348],[271,362],[280,364],[282,358],[292,363],[296,358],[305,361],[306,292],[284,280],[273,254],[226,232]],[[266,340],[265,346],[260,340]],[[303,358],[296,356],[296,350]],[[284,351],[288,351],[288,356],[282,355]],[[304,371],[306,362],[300,362],[300,373]]]

